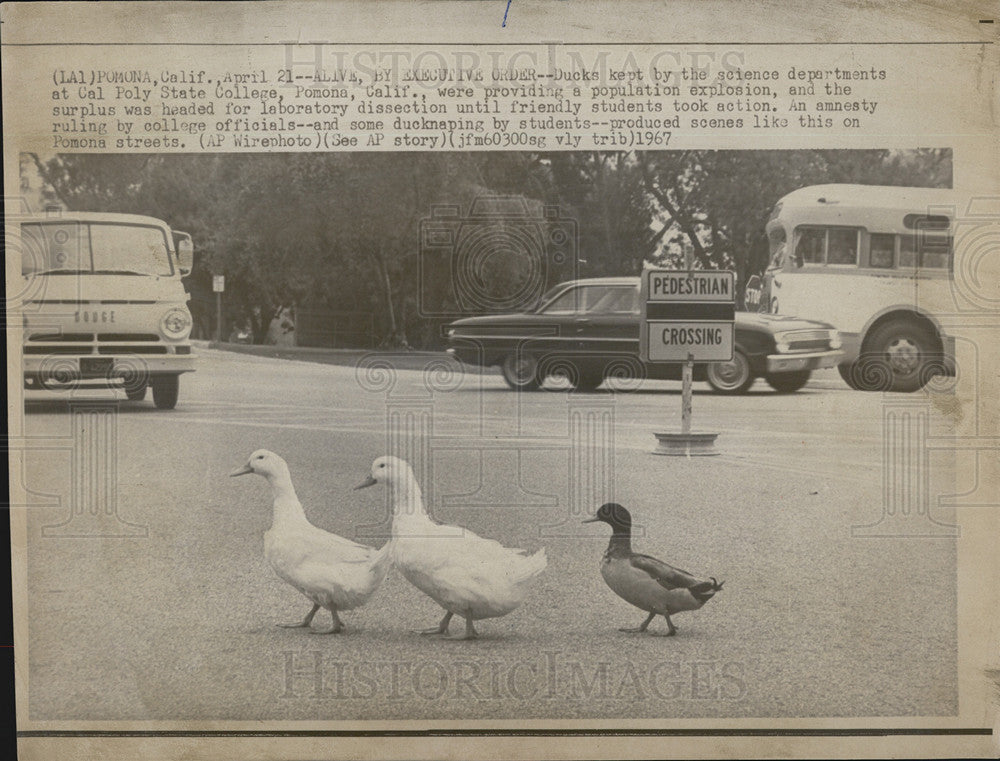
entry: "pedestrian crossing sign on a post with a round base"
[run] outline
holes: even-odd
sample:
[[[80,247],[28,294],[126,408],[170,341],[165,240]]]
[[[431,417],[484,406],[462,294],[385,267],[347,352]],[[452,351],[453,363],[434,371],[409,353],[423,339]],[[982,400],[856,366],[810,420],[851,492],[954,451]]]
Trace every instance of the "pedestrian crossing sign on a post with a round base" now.
[[[690,257],[689,257],[690,263]],[[736,277],[718,270],[642,273],[639,350],[644,362],[683,362],[681,432],[656,433],[653,454],[714,455],[717,433],[691,433],[695,362],[728,362],[735,344]]]

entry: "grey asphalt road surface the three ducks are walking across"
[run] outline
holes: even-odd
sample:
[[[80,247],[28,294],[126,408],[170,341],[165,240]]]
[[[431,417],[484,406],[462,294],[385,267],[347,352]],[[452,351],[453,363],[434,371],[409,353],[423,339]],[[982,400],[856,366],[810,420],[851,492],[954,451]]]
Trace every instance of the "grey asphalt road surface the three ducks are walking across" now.
[[[80,392],[73,404],[109,398]],[[884,413],[919,405],[914,395],[852,392],[831,373],[793,395],[762,381],[745,397],[699,386],[694,429],[718,432],[722,454],[686,459],[649,454],[654,430],[679,427],[679,383],[518,395],[496,375],[359,373],[203,349],[177,409],[123,402],[87,423],[108,431],[91,446],[113,445],[110,506],[95,496],[100,475],[74,491],[67,437],[80,418],[66,396],[28,399],[25,433],[47,447],[22,475],[34,493],[32,720],[586,717],[600,726],[957,711],[955,542],[899,536],[920,532],[883,516],[884,469],[895,467]],[[929,420],[948,422],[934,409]],[[267,484],[228,473],[258,447],[274,450],[314,523],[381,544],[384,490],[351,487],[395,442],[426,453],[425,497],[439,520],[544,546],[547,571],[522,607],[480,622],[472,642],[412,634],[441,610],[397,572],[366,607],[342,614],[342,635],[277,628],[309,603],[264,560]],[[951,491],[950,469],[929,464],[933,501]],[[674,617],[676,637],[618,631],[644,616],[600,577],[608,527],[580,524],[612,497],[642,526],[636,549],[725,579],[702,610]],[[926,515],[907,520],[942,533]],[[866,524],[889,535],[852,535]],[[662,619],[652,628],[662,631]]]

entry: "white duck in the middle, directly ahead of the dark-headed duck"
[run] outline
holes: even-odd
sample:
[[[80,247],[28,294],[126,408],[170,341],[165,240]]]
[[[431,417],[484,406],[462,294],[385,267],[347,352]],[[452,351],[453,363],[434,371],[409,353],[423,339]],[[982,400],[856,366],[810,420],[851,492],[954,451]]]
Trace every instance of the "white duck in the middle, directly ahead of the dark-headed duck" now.
[[[524,600],[528,582],[545,570],[544,549],[529,556],[432,520],[406,461],[379,457],[367,480],[355,488],[377,483],[389,487],[392,499],[393,561],[413,586],[447,611],[440,624],[421,634],[447,634],[457,614],[465,619],[465,634],[449,639],[473,639],[473,621],[510,613]]]

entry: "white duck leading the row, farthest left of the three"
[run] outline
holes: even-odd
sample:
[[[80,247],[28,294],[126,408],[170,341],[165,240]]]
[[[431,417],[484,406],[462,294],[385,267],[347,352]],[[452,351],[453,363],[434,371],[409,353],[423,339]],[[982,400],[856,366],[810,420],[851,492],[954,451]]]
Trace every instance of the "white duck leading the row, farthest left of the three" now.
[[[312,525],[295,495],[288,465],[274,452],[258,449],[243,468],[230,475],[247,473],[266,478],[274,493],[274,518],[264,534],[264,557],[278,576],[313,603],[302,621],[278,626],[309,628],[316,612],[326,608],[333,625],[313,633],[339,633],[344,623],[338,611],[364,605],[385,578],[389,543],[375,550]]]

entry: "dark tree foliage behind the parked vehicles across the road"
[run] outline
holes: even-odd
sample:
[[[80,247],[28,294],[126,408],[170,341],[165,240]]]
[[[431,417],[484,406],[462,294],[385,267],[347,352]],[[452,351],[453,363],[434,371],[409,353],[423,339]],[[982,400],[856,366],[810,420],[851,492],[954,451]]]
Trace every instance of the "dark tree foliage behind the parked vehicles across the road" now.
[[[249,323],[257,340],[292,308],[368,315],[369,340],[392,346],[433,346],[447,315],[470,308],[454,272],[435,265],[421,240],[443,207],[466,220],[454,223],[460,248],[478,224],[466,216],[477,198],[520,199],[523,219],[490,224],[512,240],[537,232],[542,242],[526,255],[551,259],[546,286],[682,266],[685,248],[698,266],[734,269],[742,284],[766,264],[770,210],[796,188],[951,184],[951,153],[939,149],[73,154],[32,163],[50,200],[68,209],[147,214],[192,234],[198,256],[187,286],[201,335],[212,332],[217,273],[226,276],[227,325]],[[553,257],[544,243],[551,224],[575,230],[570,256]],[[478,276],[516,290],[521,259],[486,255]]]

